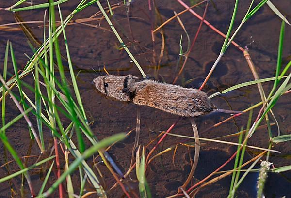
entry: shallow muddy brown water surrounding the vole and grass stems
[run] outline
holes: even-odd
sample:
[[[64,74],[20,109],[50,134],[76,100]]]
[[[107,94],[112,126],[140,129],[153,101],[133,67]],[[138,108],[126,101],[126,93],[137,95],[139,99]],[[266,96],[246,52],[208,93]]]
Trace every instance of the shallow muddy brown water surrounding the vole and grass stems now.
[[[42,1],[34,1],[40,3]],[[189,2],[186,1],[188,4]],[[10,1],[1,1],[0,7],[8,7],[11,5]],[[15,2],[13,2],[15,3]],[[111,2],[117,3],[117,1]],[[239,24],[248,7],[248,1],[242,1],[239,4],[237,20],[235,27]],[[279,0],[274,2],[277,8],[284,14],[290,21],[291,3],[289,1]],[[227,31],[230,17],[233,9],[233,2],[222,0],[214,1],[215,6],[209,6],[206,14],[208,20],[213,26],[222,32]],[[68,15],[77,1],[69,1],[61,6],[63,16]],[[105,4],[104,4],[105,6]],[[204,6],[195,8],[194,10],[202,15]],[[173,11],[180,12],[183,7],[175,0],[169,1],[156,1],[156,14],[155,23],[161,24],[169,17],[173,16]],[[74,19],[88,18],[94,13],[98,12],[97,5],[92,5],[78,13]],[[180,65],[178,67],[177,58],[179,54],[179,40],[183,34],[183,50],[186,51],[187,39],[184,31],[176,19],[172,20],[163,27],[162,32],[165,37],[165,50],[161,60],[161,68],[159,74],[155,76],[155,65],[159,61],[160,50],[162,46],[162,36],[158,32],[155,34],[155,56],[153,53],[153,42],[151,39],[151,22],[150,13],[148,10],[148,1],[136,0],[131,4],[129,11],[129,22],[126,15],[127,8],[120,6],[114,10],[114,16],[111,18],[114,26],[117,28],[124,42],[129,46],[129,50],[135,55],[137,61],[143,67],[145,73],[150,76],[157,77],[160,81],[172,83],[174,77],[177,75]],[[17,13],[24,21],[37,21],[43,20],[44,10],[23,11]],[[15,22],[14,13],[0,11],[0,24]],[[99,16],[97,16],[99,17]],[[199,20],[189,12],[180,15],[186,30],[189,33],[191,41],[193,40],[196,30],[199,26]],[[105,98],[98,93],[91,85],[92,79],[97,75],[106,75],[99,68],[106,66],[106,69],[111,74],[115,75],[128,75],[141,76],[136,66],[131,62],[125,50],[120,49],[115,35],[111,32],[110,27],[105,20],[92,21],[88,26],[81,23],[72,23],[66,27],[66,34],[68,37],[68,44],[70,47],[70,54],[76,70],[78,72],[78,85],[81,92],[81,97],[90,122],[93,121],[91,128],[95,135],[102,139],[119,132],[129,132],[135,127],[136,109],[137,107],[132,104],[122,103]],[[130,24],[130,25],[129,25]],[[249,53],[256,65],[257,72],[260,78],[275,76],[277,46],[280,31],[281,20],[276,16],[267,5],[263,6],[261,10],[251,18],[238,33],[235,41],[242,47],[248,46]],[[100,26],[98,26],[100,25]],[[42,23],[32,23],[27,25],[33,34],[42,41],[43,27]],[[19,26],[12,26],[18,28]],[[27,39],[21,30],[4,31],[0,30],[0,62],[3,62],[6,41],[9,39],[15,49],[16,61],[18,68],[21,69],[25,66],[28,59],[24,56],[27,53],[32,55],[31,49],[27,44]],[[291,52],[291,32],[290,27],[286,26],[285,42],[283,51],[283,65],[290,60]],[[254,42],[252,43],[252,40]],[[210,67],[217,58],[220,48],[223,43],[223,38],[211,30],[206,25],[202,26],[199,33],[197,42],[190,53],[185,69],[179,76],[176,84],[185,87],[199,87],[207,76]],[[250,44],[252,43],[252,44]],[[62,39],[60,39],[61,50],[65,55],[65,46]],[[67,63],[64,61],[64,64]],[[3,64],[0,64],[1,72]],[[9,61],[9,72],[13,73],[12,63]],[[97,74],[92,72],[96,70]],[[69,76],[68,70],[66,70]],[[26,76],[23,80],[30,83],[32,75]],[[242,52],[234,46],[229,46],[226,54],[220,61],[217,69],[211,76],[206,88],[204,89],[209,95],[222,91],[230,86],[253,80],[254,77],[242,55]],[[272,83],[263,84],[265,91],[268,93],[272,88]],[[14,88],[13,91],[17,91]],[[31,94],[33,96],[33,94]],[[214,97],[212,102],[219,108],[243,110],[248,108],[251,104],[256,104],[260,100],[259,91],[257,86],[248,86],[235,91],[231,91],[222,96]],[[273,108],[275,116],[280,124],[281,134],[288,134],[291,131],[291,111],[290,111],[290,96],[282,96],[278,103]],[[146,145],[154,139],[161,131],[167,130],[173,122],[177,120],[177,116],[164,113],[162,111],[152,109],[149,107],[139,107],[141,111],[141,135],[140,144]],[[254,110],[254,116],[258,114],[259,109]],[[6,105],[6,122],[12,120],[19,112],[13,102],[7,98]],[[220,122],[229,117],[226,114],[211,113],[209,115],[199,117],[196,119],[198,131],[205,131],[209,126]],[[237,132],[241,126],[246,126],[248,114],[235,118],[225,124],[211,130],[207,130],[200,134],[200,137],[214,138],[231,133]],[[253,118],[254,120],[255,118]],[[69,122],[63,118],[64,125]],[[272,120],[272,122],[274,122]],[[36,122],[33,121],[36,125]],[[262,123],[264,124],[264,122]],[[276,136],[276,126],[272,127],[273,135]],[[24,120],[18,121],[7,131],[7,136],[11,144],[16,148],[20,156],[32,155],[30,158],[25,159],[27,165],[31,165],[39,155],[39,149],[35,142],[29,138],[27,124]],[[189,119],[182,119],[178,122],[177,126],[172,130],[172,133],[192,136],[192,128]],[[49,130],[45,130],[46,145],[49,146],[51,142],[51,135]],[[157,151],[162,151],[172,145],[178,144],[182,139],[179,137],[168,136],[159,146]],[[237,142],[237,137],[227,138],[227,141]],[[265,147],[268,146],[267,129],[262,128],[256,131],[254,136],[249,139],[250,145]],[[134,144],[134,133],[129,135],[124,141],[116,144],[109,154],[113,157],[119,168],[125,172],[130,165],[131,150]],[[90,146],[88,142],[88,147]],[[151,149],[152,146],[149,147]],[[204,143],[201,145],[201,153],[198,162],[198,167],[194,174],[192,184],[203,179],[226,160],[235,152],[235,147],[226,144],[217,143]],[[274,163],[275,167],[285,166],[290,164],[290,143],[281,143],[275,145],[275,150],[280,151],[280,154],[272,154],[270,161]],[[147,151],[148,152],[148,151]],[[258,151],[251,150],[245,155],[245,159],[250,159]],[[35,156],[34,156],[35,155]],[[4,146],[0,143],[0,165],[3,165],[7,160],[12,160],[12,157],[4,152]],[[179,186],[185,182],[188,173],[191,169],[189,156],[194,156],[194,149],[188,150],[184,146],[179,146],[175,155],[174,163],[172,161],[173,152],[168,152],[160,158],[156,158],[149,166],[146,174],[152,196],[154,198],[162,198],[165,196],[177,193]],[[62,159],[64,160],[64,159]],[[98,158],[96,162],[98,162]],[[91,160],[92,161],[92,160]],[[63,161],[64,162],[64,161]],[[175,166],[174,166],[175,164]],[[233,163],[229,163],[223,170],[231,169]],[[98,164],[98,168],[104,174],[106,185],[112,186],[114,179],[108,172],[107,168]],[[8,175],[9,172],[18,170],[16,163],[10,164],[10,169],[7,167],[0,168],[0,178]],[[39,189],[46,172],[39,169],[30,171],[32,175],[32,184],[36,190]],[[79,186],[78,174],[72,175],[74,186]],[[246,180],[238,189],[238,198],[253,198],[256,197],[256,178],[257,173],[249,174]],[[134,173],[130,178],[127,178],[128,185],[138,193],[138,182],[135,180]],[[265,195],[266,198],[277,198],[286,196],[291,197],[291,174],[284,172],[282,174],[270,174],[266,183]],[[49,183],[54,181],[52,175]],[[227,177],[219,182],[201,189],[196,197],[198,198],[224,198],[228,194],[230,177]],[[86,187],[90,190],[90,185]],[[13,191],[11,190],[13,189]],[[21,177],[16,177],[9,182],[0,183],[0,198],[7,197],[30,197],[27,184],[24,186],[24,194],[21,195]],[[75,189],[78,192],[78,189]],[[78,194],[78,193],[77,193]],[[58,196],[55,194],[54,196]],[[111,198],[124,198],[126,197],[122,190],[118,187],[108,191],[108,196]],[[96,197],[93,195],[91,197]]]

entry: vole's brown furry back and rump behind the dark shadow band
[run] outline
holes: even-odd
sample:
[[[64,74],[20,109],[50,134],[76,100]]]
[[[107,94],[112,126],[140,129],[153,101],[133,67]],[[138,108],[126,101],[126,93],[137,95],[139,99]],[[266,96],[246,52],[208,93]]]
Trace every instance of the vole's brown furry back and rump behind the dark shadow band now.
[[[203,91],[153,80],[136,82],[132,102],[185,117],[200,116],[215,108]]]

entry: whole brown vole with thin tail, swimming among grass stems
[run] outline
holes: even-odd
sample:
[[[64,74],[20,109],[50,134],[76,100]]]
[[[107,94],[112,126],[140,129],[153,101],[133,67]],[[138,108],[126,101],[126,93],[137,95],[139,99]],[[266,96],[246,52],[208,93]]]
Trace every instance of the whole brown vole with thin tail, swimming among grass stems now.
[[[183,117],[197,117],[217,109],[203,91],[136,76],[99,76],[93,80],[98,91],[119,101],[145,105]],[[241,112],[240,112],[241,113]]]

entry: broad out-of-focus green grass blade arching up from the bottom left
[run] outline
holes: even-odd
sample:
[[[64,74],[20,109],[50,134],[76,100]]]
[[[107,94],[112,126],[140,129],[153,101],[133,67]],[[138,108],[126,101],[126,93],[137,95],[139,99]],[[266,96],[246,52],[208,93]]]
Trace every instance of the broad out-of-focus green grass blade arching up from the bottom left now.
[[[116,141],[120,141],[122,139],[125,138],[125,134],[124,133],[120,133],[120,134],[115,134],[111,137],[107,137],[101,141],[99,141],[96,145],[91,146],[89,149],[87,149],[85,152],[83,152],[83,154],[81,155],[81,157],[75,159],[69,166],[69,169],[67,171],[65,171],[61,177],[59,179],[57,179],[57,181],[55,181],[52,186],[42,195],[39,195],[38,198],[44,198],[44,197],[48,197],[51,193],[53,193],[55,191],[55,189],[59,186],[60,183],[62,183],[66,176],[73,173],[75,171],[75,168],[78,167],[78,165],[86,158],[90,157],[91,155],[93,155],[95,152],[97,152],[98,150],[113,144]]]

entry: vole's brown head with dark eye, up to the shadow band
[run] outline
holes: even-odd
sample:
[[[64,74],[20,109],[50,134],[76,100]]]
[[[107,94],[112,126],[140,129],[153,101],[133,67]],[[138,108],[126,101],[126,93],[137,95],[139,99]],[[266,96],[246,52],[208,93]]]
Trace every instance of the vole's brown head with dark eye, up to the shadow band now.
[[[113,97],[120,101],[131,101],[134,94],[136,76],[99,76],[93,82],[98,91],[106,96]]]

